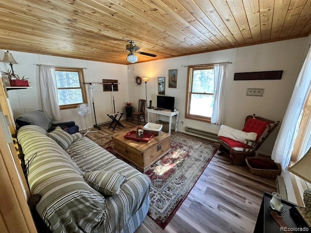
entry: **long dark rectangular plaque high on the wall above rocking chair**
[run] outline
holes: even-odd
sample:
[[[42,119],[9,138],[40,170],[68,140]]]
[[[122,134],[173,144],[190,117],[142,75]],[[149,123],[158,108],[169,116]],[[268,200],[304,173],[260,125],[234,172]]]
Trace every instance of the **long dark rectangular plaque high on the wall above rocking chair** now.
[[[235,73],[234,80],[273,80],[281,79],[283,70]]]

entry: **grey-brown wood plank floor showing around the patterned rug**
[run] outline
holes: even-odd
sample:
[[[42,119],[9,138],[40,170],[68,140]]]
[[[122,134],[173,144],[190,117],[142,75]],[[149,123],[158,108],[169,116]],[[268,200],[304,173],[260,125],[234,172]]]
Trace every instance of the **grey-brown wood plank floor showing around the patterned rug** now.
[[[105,128],[101,132],[111,134]],[[265,191],[276,191],[275,180],[255,176],[216,153],[164,230],[146,216],[135,233],[252,233]]]

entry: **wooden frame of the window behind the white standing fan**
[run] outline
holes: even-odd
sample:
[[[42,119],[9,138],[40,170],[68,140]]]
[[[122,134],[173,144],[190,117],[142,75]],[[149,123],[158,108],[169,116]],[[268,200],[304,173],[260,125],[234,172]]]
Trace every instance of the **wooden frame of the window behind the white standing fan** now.
[[[77,72],[78,76],[79,76],[80,87],[57,87],[56,71]],[[83,68],[55,67],[55,86],[56,86],[56,92],[57,93],[58,93],[58,90],[81,89],[82,101],[83,101],[82,103],[86,103],[87,102],[86,87],[84,85]],[[57,101],[58,101],[58,96],[57,96]],[[76,108],[79,104],[81,104],[81,103],[72,103],[72,104],[65,104],[65,105],[59,105],[58,104],[58,106],[59,106],[60,110],[63,110],[63,109]]]

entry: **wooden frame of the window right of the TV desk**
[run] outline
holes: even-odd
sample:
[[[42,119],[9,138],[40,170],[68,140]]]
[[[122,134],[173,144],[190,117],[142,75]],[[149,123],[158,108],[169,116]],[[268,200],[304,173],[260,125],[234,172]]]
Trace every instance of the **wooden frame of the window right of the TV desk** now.
[[[188,66],[185,118],[210,123],[211,117],[190,114],[191,94],[212,95],[212,96],[215,95],[215,93],[199,93],[199,92],[192,92],[191,91],[192,90],[192,81],[193,81],[193,79],[192,79],[193,71],[194,70],[202,70],[202,69],[214,69],[214,65]]]

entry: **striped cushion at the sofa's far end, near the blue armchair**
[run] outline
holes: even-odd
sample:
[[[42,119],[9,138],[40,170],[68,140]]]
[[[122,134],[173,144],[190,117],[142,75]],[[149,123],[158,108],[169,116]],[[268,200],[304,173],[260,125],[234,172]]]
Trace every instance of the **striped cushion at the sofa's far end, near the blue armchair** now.
[[[82,138],[81,133],[70,134],[62,130],[61,127],[57,126],[54,131],[47,134],[55,142],[57,142],[64,150],[67,150],[69,146],[77,139]]]

